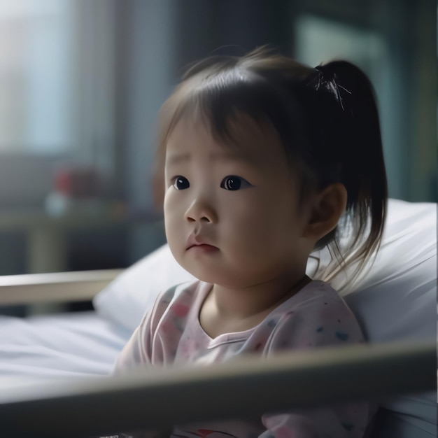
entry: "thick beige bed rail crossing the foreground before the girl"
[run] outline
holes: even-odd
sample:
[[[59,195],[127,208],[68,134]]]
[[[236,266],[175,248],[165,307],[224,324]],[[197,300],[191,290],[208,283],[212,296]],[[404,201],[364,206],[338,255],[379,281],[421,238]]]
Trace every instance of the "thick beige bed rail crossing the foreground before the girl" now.
[[[90,437],[435,390],[436,345],[321,348],[0,393],[2,437]]]

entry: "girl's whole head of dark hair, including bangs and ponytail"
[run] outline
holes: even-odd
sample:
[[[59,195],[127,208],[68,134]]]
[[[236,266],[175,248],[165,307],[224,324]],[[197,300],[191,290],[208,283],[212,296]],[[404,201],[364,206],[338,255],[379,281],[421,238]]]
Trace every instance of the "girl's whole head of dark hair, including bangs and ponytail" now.
[[[321,239],[344,267],[379,248],[387,183],[374,89],[357,66],[334,61],[312,68],[259,48],[243,57],[210,57],[192,65],[162,106],[156,194],[162,204],[167,137],[183,115],[195,113],[220,140],[242,113],[278,134],[301,177],[301,195],[342,183],[348,193],[341,227]],[[339,241],[349,236],[348,243]]]

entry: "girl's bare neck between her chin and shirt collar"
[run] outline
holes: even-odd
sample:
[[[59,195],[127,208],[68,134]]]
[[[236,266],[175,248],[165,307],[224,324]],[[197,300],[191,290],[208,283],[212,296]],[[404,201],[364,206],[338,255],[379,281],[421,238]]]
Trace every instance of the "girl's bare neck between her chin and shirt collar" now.
[[[212,338],[250,330],[310,281],[308,276],[300,275],[239,290],[213,285],[202,305],[199,322]]]

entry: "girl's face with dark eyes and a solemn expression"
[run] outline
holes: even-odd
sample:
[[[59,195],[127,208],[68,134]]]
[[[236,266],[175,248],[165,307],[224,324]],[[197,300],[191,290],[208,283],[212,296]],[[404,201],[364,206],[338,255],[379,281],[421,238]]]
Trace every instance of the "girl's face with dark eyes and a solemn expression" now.
[[[304,275],[307,214],[297,209],[297,178],[274,132],[244,118],[239,125],[235,145],[218,144],[188,118],[171,132],[164,197],[171,252],[197,278],[229,288]]]

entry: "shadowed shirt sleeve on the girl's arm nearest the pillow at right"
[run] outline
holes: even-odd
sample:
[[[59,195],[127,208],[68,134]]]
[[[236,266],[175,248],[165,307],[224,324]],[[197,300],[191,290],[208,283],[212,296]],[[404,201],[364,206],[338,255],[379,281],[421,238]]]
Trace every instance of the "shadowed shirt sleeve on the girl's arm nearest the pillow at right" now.
[[[364,341],[353,313],[339,297],[310,300],[272,323],[276,327],[269,340],[268,356],[282,350],[301,351]],[[369,423],[369,411],[368,402],[351,402],[267,414],[262,416],[267,430],[260,438],[360,438]]]

